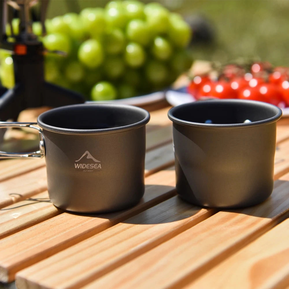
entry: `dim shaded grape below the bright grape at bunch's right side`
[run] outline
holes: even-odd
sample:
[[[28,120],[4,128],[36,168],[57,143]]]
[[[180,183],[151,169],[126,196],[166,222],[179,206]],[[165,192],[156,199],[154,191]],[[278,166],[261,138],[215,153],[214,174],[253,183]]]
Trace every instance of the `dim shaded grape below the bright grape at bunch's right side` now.
[[[162,84],[168,76],[168,68],[160,61],[150,60],[145,67],[145,75],[149,82]]]

